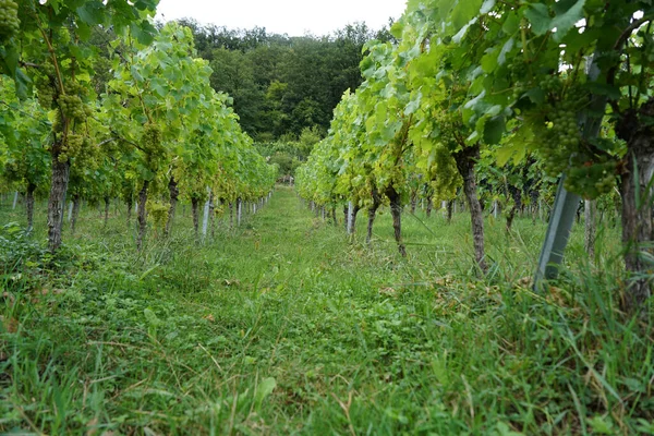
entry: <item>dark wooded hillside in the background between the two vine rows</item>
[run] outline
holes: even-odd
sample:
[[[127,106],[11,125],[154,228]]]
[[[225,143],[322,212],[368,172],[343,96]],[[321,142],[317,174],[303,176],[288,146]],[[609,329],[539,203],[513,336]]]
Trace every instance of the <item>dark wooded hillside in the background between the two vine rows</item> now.
[[[375,37],[363,23],[303,37],[180,23],[193,31],[199,56],[210,62],[211,86],[233,98],[243,130],[264,142],[313,125],[326,131],[342,93],[361,84],[362,48]]]

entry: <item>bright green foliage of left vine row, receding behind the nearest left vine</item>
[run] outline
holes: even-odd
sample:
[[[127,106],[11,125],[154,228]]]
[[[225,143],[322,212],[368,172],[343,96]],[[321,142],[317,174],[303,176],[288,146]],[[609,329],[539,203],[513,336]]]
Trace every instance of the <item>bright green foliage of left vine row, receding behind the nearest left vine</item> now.
[[[152,46],[124,44],[134,52],[109,82],[102,114],[111,134],[123,140],[129,185],[141,190],[144,181],[153,182],[157,204],[168,201],[164,191],[171,179],[184,199],[203,202],[209,193],[230,202],[264,196],[275,168],[254,152],[227,107],[229,97],[211,89],[211,69],[194,58],[190,29],[167,24]]]

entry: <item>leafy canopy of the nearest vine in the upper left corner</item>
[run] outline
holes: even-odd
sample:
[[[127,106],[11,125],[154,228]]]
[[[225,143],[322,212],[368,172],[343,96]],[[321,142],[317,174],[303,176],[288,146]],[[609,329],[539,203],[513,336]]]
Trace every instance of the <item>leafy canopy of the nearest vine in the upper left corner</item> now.
[[[15,5],[13,1],[2,3],[5,24],[17,24],[17,19],[7,15],[9,10],[16,13],[15,8],[10,8],[12,4]],[[76,124],[82,123],[88,114],[84,102],[89,94],[88,81],[96,51],[84,43],[89,39],[90,28],[104,25],[113,26],[117,32],[129,29],[144,43],[148,43],[154,27],[147,16],[154,12],[155,5],[153,0],[140,1],[138,5],[121,5],[99,0],[28,0],[19,5],[20,26],[14,26],[12,31],[20,37],[8,39],[8,29],[3,27],[3,40],[0,41],[3,62],[0,63],[0,72],[14,80],[16,94],[23,98],[29,96],[32,83],[36,83],[44,108],[50,109],[53,105],[59,111],[53,124],[53,158],[60,159],[62,153],[64,156],[60,160],[66,161],[70,158],[62,150],[66,146],[64,143],[68,134],[75,132],[78,129]]]

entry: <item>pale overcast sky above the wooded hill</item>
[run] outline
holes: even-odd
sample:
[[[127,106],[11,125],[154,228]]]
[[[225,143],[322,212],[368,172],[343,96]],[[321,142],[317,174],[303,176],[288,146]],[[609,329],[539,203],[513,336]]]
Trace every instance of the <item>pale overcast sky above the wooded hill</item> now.
[[[158,19],[192,17],[229,28],[266,27],[268,33],[326,35],[364,21],[377,29],[398,19],[405,0],[160,0]]]

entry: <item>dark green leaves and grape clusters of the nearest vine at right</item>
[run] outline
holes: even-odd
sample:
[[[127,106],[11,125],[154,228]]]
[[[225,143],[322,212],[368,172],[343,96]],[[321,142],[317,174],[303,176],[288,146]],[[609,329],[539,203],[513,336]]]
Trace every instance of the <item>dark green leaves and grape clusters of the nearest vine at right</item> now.
[[[439,12],[425,15],[421,8]],[[522,156],[537,150],[548,175],[566,172],[569,190],[595,198],[611,190],[623,148],[617,141],[591,137],[590,125],[602,122],[607,99],[617,113],[628,101],[647,98],[631,87],[647,81],[640,66],[628,66],[620,74],[623,82],[616,80],[616,71],[625,70],[620,64],[628,39],[639,59],[651,50],[637,36],[650,38],[644,24],[649,11],[646,2],[611,2],[604,8],[597,2],[553,0],[486,1],[479,9],[457,4],[446,13],[438,2],[426,1],[410,4],[398,33],[403,37],[401,49],[411,56],[421,32],[436,29],[429,49],[412,63],[420,69],[416,76],[426,73],[425,65],[436,65],[446,86],[456,74],[467,76],[463,120],[474,128],[468,142],[483,138],[496,144],[506,130],[521,130],[517,141],[506,142],[507,149]],[[637,12],[645,15],[640,22]],[[447,52],[458,60],[444,58]]]

